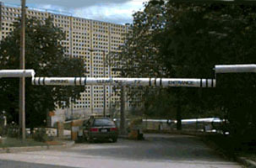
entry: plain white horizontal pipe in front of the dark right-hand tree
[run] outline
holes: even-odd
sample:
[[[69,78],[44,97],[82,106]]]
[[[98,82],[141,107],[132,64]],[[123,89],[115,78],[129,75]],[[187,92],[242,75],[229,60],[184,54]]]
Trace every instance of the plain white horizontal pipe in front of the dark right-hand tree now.
[[[245,65],[217,65],[215,66],[215,73],[245,73],[256,72],[255,64]]]

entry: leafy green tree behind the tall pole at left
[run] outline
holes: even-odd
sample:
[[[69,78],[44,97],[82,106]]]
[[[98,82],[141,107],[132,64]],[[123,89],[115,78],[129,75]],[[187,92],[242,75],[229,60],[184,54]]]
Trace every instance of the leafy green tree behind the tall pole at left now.
[[[67,50],[61,42],[66,34],[52,23],[35,18],[26,19],[25,68],[35,70],[35,76],[83,76],[84,62],[65,55]],[[19,69],[20,22],[14,22],[14,31],[0,44],[0,65],[2,69]],[[8,121],[19,122],[19,79],[0,80],[0,111],[10,114]],[[69,106],[70,97],[74,101],[80,97],[84,87],[32,86],[26,78],[25,109],[27,126],[41,126],[46,113]]]

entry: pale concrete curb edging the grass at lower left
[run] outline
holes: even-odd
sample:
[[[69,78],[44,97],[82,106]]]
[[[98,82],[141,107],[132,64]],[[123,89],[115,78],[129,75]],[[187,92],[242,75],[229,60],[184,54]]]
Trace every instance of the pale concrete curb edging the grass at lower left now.
[[[45,145],[45,146],[25,146],[25,147],[9,147],[0,149],[0,154],[3,153],[16,153],[16,152],[28,152],[28,151],[41,151],[41,150],[60,150],[63,148],[72,147],[74,141],[65,142],[62,145]]]

